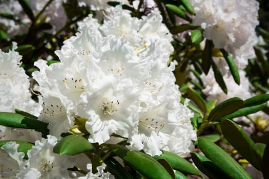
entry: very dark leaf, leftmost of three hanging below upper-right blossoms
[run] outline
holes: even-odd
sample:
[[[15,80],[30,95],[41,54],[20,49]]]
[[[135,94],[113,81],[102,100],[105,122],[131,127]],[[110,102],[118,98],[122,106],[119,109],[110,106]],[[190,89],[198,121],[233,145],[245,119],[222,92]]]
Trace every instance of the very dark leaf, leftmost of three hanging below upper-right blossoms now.
[[[209,69],[212,63],[212,49],[214,47],[214,44],[211,40],[205,41],[205,47],[202,54],[202,70],[207,75],[209,73]]]

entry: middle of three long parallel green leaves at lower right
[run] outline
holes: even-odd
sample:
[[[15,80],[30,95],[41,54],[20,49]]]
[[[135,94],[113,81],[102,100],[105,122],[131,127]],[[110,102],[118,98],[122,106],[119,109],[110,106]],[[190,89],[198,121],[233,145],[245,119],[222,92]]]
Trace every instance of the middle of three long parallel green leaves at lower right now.
[[[209,160],[221,168],[229,178],[250,178],[250,175],[219,146],[203,138],[198,138],[198,146]]]

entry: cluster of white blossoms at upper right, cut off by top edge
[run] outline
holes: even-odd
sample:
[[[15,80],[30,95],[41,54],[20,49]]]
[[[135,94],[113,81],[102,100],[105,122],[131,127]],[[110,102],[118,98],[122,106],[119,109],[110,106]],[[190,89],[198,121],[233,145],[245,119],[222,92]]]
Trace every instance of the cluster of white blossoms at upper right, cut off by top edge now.
[[[255,57],[253,46],[258,42],[255,27],[259,24],[259,3],[255,0],[220,1],[191,0],[196,15],[193,24],[201,25],[203,36],[215,47],[225,49],[239,69],[247,59]]]

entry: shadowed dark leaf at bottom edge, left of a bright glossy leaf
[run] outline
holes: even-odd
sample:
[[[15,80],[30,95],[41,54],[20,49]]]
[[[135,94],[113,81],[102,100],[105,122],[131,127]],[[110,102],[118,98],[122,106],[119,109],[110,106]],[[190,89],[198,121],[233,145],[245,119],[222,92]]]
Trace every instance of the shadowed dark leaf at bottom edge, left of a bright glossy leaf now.
[[[105,161],[107,165],[106,169],[119,179],[132,179],[133,177],[128,173],[120,163],[118,163],[114,158],[109,157]]]

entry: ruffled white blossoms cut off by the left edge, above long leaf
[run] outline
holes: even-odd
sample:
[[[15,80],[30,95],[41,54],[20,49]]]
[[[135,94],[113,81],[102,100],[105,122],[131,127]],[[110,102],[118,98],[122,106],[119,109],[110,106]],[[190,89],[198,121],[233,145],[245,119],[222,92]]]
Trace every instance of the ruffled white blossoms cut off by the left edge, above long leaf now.
[[[31,99],[30,82],[23,68],[20,68],[22,56],[15,52],[16,43],[8,53],[0,50],[0,111],[14,112],[14,109],[39,115],[38,103]]]

